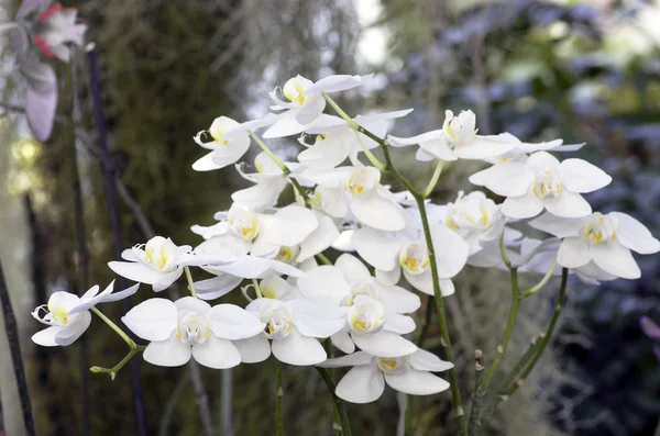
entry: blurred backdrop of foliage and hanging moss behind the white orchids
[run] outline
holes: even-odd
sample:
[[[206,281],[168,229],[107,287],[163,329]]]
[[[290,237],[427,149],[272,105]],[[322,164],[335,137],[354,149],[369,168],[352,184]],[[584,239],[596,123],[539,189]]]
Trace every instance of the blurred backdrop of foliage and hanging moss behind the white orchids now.
[[[659,234],[660,5],[656,2],[63,3],[80,9],[89,24],[88,41],[98,49],[110,164],[119,174],[124,247],[144,242],[151,232],[172,236],[178,244],[198,243],[189,226],[210,224],[212,214],[229,205],[230,193],[243,187],[231,169],[206,174],[190,169],[204,153],[191,136],[208,128],[216,116],[245,120],[265,113],[266,92],[296,74],[316,79],[332,72],[371,71],[376,72],[373,89],[346,93],[341,101],[349,113],[415,108],[396,125],[397,135],[405,136],[438,128],[446,109],[472,108],[482,133],[506,131],[522,141],[586,142],[580,157],[615,177],[612,186],[588,198],[594,209],[626,211]],[[4,16],[12,16],[18,7],[11,1],[0,4]],[[24,86],[11,75],[11,53],[3,47],[3,98],[20,104]],[[91,281],[105,284],[112,279],[106,262],[112,258],[113,241],[85,56],[79,54],[72,68],[58,72],[61,120],[46,144],[26,135],[20,114],[8,111],[1,120],[1,254],[3,262],[23,266],[12,270],[11,283],[26,338],[37,328],[26,321],[29,310],[58,287],[77,289],[84,261],[76,243],[76,171]],[[76,127],[69,121],[74,88],[81,114]],[[275,144],[288,157],[295,156],[297,146],[294,141]],[[417,164],[409,150],[396,152],[403,172],[424,186],[431,168]],[[466,176],[479,168],[479,164],[450,166],[435,200],[452,201],[459,189],[470,190]],[[646,256],[639,262],[642,279],[638,281],[618,280],[597,288],[571,283],[553,353],[483,434],[653,434],[660,413],[660,371],[638,320],[641,314],[660,320],[660,256]],[[508,284],[502,272],[468,268],[457,287],[457,294],[446,301],[458,344],[461,390],[468,395],[473,387],[474,349],[483,349],[488,359],[498,344],[508,311]],[[547,324],[556,289],[551,282],[525,301],[505,369]],[[143,287],[132,303],[150,294]],[[239,292],[229,300],[240,302]],[[121,314],[119,308],[107,310],[116,318]],[[429,336],[428,346],[439,351],[433,327]],[[94,323],[87,337],[94,365],[111,366],[123,356],[123,344],[103,325]],[[138,434],[128,368],[116,381],[92,377],[89,409],[85,409],[80,367],[88,364],[80,364],[85,355],[80,347],[45,350],[25,340],[24,354],[40,435],[86,435],[81,428],[86,414],[91,434]],[[148,434],[201,434],[200,398],[188,371],[142,361],[140,367]],[[8,434],[20,434],[9,432],[15,417],[8,413],[12,400],[4,372],[0,379],[4,424]],[[223,434],[227,377],[204,368],[201,373],[216,433]],[[271,434],[273,362],[244,365],[231,376],[233,434]],[[455,434],[448,399],[443,394],[415,399],[416,435]],[[329,395],[316,371],[286,367],[284,401],[289,434],[332,434]],[[354,433],[395,434],[398,407],[392,392],[377,404],[349,405]]]

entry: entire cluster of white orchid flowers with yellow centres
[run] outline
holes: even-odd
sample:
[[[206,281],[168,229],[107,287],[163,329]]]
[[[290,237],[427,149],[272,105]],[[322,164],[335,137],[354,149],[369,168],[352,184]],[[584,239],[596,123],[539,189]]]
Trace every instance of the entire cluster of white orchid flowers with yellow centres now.
[[[193,357],[210,368],[230,368],[273,354],[289,365],[353,367],[337,387],[346,401],[375,401],[385,382],[408,394],[431,394],[449,388],[431,372],[453,365],[405,337],[416,328],[407,314],[420,306],[420,298],[407,288],[449,297],[455,292],[452,278],[465,265],[498,268],[503,258],[520,272],[550,275],[564,267],[588,282],[636,279],[640,271],[630,250],[660,250],[660,242],[638,221],[620,212],[593,212],[583,199],[582,193],[607,186],[608,175],[584,160],[560,161],[549,153],[582,145],[562,145],[561,139],[527,144],[508,133],[480,136],[471,111],[447,111],[438,131],[389,136],[389,122],[409,110],[350,119],[328,97],[369,79],[330,76],[312,82],[298,76],[271,93],[274,112],[264,119],[238,123],[220,116],[195,136],[210,152],[194,169],[235,164],[254,186],[234,192],[229,210],[215,215],[216,224],[193,226],[204,238],[195,248],[157,236],[125,250],[125,261],[109,264],[155,292],[184,271],[188,277],[193,297],[150,299],[122,317],[148,342],[146,361],[180,366]],[[341,118],[324,113],[328,102]],[[298,163],[279,160],[256,135],[262,128],[263,138],[298,136],[305,146]],[[253,143],[263,153],[254,160],[256,172],[246,172],[238,163]],[[382,168],[370,149],[410,145],[419,146],[419,160],[438,165],[458,159],[492,164],[470,181],[506,199],[498,204],[473,191],[460,192],[452,203],[426,200],[420,205],[407,193],[393,193],[381,183]],[[374,166],[365,166],[362,156]],[[296,202],[278,205],[287,186]],[[526,226],[554,237],[529,238]],[[345,251],[333,265],[322,255],[330,247]],[[190,267],[212,278],[193,282]],[[205,301],[246,279],[252,284],[242,288],[249,300],[244,309]],[[51,325],[34,342],[69,345],[89,325],[95,304],[128,297],[136,287],[117,294],[111,290],[96,295],[95,287],[82,298],[53,294],[46,314],[41,308],[34,313]],[[345,356],[329,359],[323,339]]]

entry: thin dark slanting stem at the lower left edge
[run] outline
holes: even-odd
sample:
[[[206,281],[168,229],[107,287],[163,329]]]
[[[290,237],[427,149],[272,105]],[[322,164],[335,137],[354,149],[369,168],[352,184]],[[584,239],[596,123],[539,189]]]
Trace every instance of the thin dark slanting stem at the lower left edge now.
[[[19,338],[19,328],[16,317],[11,306],[9,299],[9,289],[4,280],[4,271],[0,264],[0,304],[2,305],[2,317],[4,318],[4,332],[9,344],[9,353],[11,354],[11,362],[14,369],[16,379],[16,388],[19,390],[19,399],[21,401],[21,411],[23,412],[23,425],[26,436],[35,436],[34,418],[32,416],[32,404],[30,403],[30,392],[28,390],[28,379],[25,378],[25,369],[23,367],[23,357],[21,356],[21,340]]]

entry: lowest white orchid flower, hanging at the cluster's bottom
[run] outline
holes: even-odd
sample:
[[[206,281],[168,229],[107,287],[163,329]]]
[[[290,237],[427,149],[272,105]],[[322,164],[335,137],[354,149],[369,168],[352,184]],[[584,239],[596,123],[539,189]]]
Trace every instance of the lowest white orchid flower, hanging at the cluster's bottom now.
[[[384,358],[365,351],[328,359],[319,367],[353,367],[337,384],[337,396],[351,403],[371,403],[381,398],[385,383],[410,395],[430,395],[449,389],[449,383],[431,372],[447,371],[453,364],[418,349],[409,356]]]

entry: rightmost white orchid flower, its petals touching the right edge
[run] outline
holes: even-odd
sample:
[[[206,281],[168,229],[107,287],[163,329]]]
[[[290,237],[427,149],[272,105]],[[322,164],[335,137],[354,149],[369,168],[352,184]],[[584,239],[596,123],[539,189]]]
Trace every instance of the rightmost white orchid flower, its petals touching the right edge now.
[[[558,264],[587,279],[638,279],[641,271],[630,251],[660,251],[660,242],[651,232],[623,212],[595,212],[573,220],[546,213],[529,225],[562,238]]]

